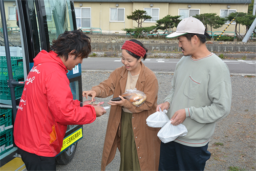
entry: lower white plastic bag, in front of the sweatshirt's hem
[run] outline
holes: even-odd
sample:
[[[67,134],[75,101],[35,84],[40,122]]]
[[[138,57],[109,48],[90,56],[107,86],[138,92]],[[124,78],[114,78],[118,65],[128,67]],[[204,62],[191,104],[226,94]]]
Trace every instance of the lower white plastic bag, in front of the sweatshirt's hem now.
[[[177,126],[174,126],[170,122],[172,121],[169,120],[157,133],[158,138],[163,143],[167,143],[175,140],[178,137],[187,135],[187,129],[185,125],[178,124]]]

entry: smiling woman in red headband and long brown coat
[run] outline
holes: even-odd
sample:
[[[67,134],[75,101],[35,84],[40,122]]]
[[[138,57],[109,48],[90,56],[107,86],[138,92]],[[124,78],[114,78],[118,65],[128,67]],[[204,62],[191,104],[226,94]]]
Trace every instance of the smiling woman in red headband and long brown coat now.
[[[156,111],[158,81],[155,74],[144,66],[147,49],[143,44],[131,39],[122,46],[122,63],[124,66],[113,71],[109,78],[83,91],[83,97],[105,98],[113,95],[120,101],[110,101],[111,110],[106,128],[101,170],[105,170],[115,157],[116,148],[120,151],[120,170],[158,170],[160,129],[146,125],[146,118]],[[139,107],[124,99],[125,90],[137,89],[146,95],[146,100]]]

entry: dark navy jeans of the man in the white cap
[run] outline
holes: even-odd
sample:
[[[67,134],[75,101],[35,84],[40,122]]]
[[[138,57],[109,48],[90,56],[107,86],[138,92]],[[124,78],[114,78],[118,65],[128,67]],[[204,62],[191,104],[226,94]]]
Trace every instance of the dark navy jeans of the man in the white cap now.
[[[203,171],[210,158],[208,144],[191,147],[171,141],[161,142],[159,171]]]

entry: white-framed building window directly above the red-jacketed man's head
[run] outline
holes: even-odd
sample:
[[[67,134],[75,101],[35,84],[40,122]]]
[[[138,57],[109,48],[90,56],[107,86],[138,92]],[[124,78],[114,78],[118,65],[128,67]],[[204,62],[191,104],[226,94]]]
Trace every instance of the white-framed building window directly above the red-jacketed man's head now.
[[[91,8],[75,8],[76,26],[91,27]]]

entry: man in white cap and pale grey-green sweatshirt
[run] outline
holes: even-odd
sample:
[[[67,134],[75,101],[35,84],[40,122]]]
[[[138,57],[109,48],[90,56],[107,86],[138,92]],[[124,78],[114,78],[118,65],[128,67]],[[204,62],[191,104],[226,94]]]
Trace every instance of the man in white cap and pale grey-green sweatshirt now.
[[[208,51],[205,27],[194,17],[184,18],[175,33],[183,57],[177,63],[173,89],[157,106],[168,110],[173,125],[184,124],[187,135],[162,143],[159,171],[204,170],[215,123],[225,118],[231,106],[231,81],[227,65]]]

